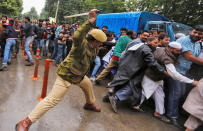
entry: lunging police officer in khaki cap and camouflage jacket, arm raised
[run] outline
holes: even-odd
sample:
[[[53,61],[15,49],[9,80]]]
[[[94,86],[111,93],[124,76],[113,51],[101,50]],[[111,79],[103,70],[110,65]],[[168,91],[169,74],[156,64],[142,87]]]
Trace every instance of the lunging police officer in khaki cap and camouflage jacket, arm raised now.
[[[90,63],[97,56],[98,47],[107,40],[103,31],[92,29],[97,18],[96,12],[97,9],[91,10],[89,12],[89,21],[85,22],[75,32],[72,49],[66,59],[59,65],[57,70],[58,76],[52,91],[34,108],[27,118],[16,125],[16,131],[28,131],[32,123],[61,101],[71,84],[76,84],[83,90],[86,98],[84,109],[96,112],[101,111],[95,105],[93,86],[90,79],[86,76]]]

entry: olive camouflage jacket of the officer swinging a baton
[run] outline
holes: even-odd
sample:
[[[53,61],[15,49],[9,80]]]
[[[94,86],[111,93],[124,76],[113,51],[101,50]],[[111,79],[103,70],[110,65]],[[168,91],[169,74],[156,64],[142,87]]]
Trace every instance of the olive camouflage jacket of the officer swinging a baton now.
[[[85,39],[92,24],[85,22],[74,34],[73,46],[67,58],[60,64],[57,74],[71,83],[79,83],[90,64],[97,56],[98,49],[93,48]]]

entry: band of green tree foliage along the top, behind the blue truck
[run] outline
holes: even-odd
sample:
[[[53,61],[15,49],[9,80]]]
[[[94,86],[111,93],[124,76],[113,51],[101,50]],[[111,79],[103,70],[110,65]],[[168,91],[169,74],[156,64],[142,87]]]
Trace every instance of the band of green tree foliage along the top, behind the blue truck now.
[[[55,17],[58,0],[46,0],[42,14]],[[202,0],[60,0],[58,21],[64,16],[88,12],[97,8],[103,13],[126,11],[150,11],[162,14],[169,19],[187,25],[201,24],[203,21]],[[86,17],[66,19],[69,22],[83,20]]]

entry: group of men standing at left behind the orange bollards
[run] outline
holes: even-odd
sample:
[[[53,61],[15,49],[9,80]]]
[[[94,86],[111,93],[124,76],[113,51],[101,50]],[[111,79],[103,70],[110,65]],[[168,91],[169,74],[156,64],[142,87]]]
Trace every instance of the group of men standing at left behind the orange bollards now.
[[[79,21],[72,26],[64,22],[56,24],[50,23],[49,19],[31,22],[30,17],[24,17],[24,21],[21,21],[18,17],[3,15],[0,25],[0,53],[4,60],[0,71],[8,70],[11,58],[17,57],[20,47],[27,55],[26,66],[34,65],[32,53],[36,55],[37,49],[40,49],[40,56],[49,57],[58,66],[69,53],[72,36],[79,24]]]

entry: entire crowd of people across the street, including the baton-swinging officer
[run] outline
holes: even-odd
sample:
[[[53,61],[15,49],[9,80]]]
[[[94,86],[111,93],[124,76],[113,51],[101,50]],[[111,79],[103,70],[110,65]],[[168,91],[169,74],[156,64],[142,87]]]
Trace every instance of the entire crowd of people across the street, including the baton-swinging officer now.
[[[1,35],[3,64],[0,71],[7,69],[11,58],[17,57],[19,45],[24,47],[27,54],[26,66],[32,66],[34,61],[30,52],[31,41],[34,55],[37,54],[37,49],[40,49],[40,56],[49,56],[52,61],[56,61],[56,66],[59,66],[58,77],[49,99],[40,102],[25,120],[18,123],[16,130],[28,130],[33,122],[61,100],[67,91],[61,89],[63,95],[57,92],[59,83],[63,83],[67,88],[71,84],[78,84],[87,100],[84,109],[100,112],[101,109],[94,104],[92,86],[85,76],[90,64],[92,68],[89,75],[93,84],[101,84],[109,74],[113,75],[103,101],[110,102],[116,113],[119,103],[125,100],[130,100],[133,110],[144,112],[141,108],[144,100],[152,97],[155,103],[153,116],[180,129],[183,129],[178,121],[179,109],[182,107],[180,99],[186,93],[186,84],[197,86],[194,89],[201,88],[201,91],[195,90],[200,97],[195,97],[192,90],[183,106],[190,113],[185,122],[186,131],[195,130],[201,125],[203,87],[199,85],[203,81],[199,80],[203,77],[203,25],[195,26],[188,36],[177,36],[177,40],[173,42],[170,42],[169,35],[159,30],[136,33],[121,28],[120,34],[115,36],[108,30],[108,25],[101,28],[104,36],[99,32],[100,27],[93,25],[96,19],[94,12],[90,12],[89,23],[81,26],[79,21],[70,26],[64,23],[51,24],[49,20],[31,23],[29,17],[20,22],[17,17],[8,20],[6,16],[2,16],[1,21],[5,29]],[[95,29],[90,30],[90,27]],[[198,72],[192,71],[188,74],[192,68]],[[60,99],[56,99],[57,102],[52,104],[52,97],[56,92]],[[193,99],[199,101],[198,106],[191,102]],[[27,125],[23,125],[23,122]]]

